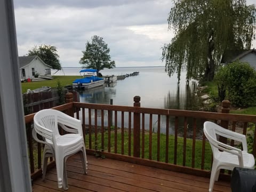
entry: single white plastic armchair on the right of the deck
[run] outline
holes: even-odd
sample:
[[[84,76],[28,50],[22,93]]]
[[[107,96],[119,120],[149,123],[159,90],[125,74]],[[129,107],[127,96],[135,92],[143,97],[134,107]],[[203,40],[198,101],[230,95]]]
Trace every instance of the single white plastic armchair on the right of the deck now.
[[[247,153],[246,137],[243,134],[227,130],[213,122],[204,123],[204,134],[209,140],[213,163],[209,191],[213,190],[214,181],[218,181],[220,169],[233,170],[235,167],[254,169],[254,156]],[[242,143],[243,150],[232,147],[217,140],[217,135]]]

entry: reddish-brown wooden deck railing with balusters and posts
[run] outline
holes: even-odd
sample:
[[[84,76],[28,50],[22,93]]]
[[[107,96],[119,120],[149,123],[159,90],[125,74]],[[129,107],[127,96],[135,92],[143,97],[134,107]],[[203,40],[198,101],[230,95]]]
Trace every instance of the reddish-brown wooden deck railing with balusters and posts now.
[[[205,121],[243,134],[249,130],[255,156],[256,116],[228,114],[229,105],[223,101],[222,113],[209,113],[144,108],[139,97],[134,97],[134,107],[72,102],[70,97],[69,103],[54,109],[81,119],[87,154],[210,177],[212,152],[203,134]],[[32,178],[42,174],[42,146],[31,137],[33,117],[25,116]]]

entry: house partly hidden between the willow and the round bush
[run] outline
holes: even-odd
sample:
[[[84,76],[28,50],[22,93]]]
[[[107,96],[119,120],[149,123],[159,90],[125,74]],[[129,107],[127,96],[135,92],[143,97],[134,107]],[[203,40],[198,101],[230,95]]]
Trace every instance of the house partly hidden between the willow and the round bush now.
[[[247,62],[256,70],[256,50],[246,51],[229,51],[225,57],[222,58],[222,63],[230,63],[234,61]]]

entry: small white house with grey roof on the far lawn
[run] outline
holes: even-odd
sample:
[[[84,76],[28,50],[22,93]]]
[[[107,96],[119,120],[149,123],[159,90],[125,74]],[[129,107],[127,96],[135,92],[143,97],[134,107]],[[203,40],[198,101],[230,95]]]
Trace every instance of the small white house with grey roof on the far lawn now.
[[[19,57],[20,78],[22,80],[35,78],[35,75],[51,76],[51,66],[47,65],[37,55]]]

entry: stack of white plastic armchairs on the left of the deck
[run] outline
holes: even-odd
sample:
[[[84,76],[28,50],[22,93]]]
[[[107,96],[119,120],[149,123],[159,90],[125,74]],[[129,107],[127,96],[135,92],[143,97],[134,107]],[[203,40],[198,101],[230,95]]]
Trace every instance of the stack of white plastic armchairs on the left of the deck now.
[[[58,126],[59,125],[59,126]],[[69,132],[61,135],[59,127]],[[38,139],[36,133],[42,136]],[[66,161],[71,155],[80,152],[84,173],[87,174],[87,158],[84,146],[81,121],[54,109],[43,109],[34,116],[33,137],[44,143],[43,179],[45,178],[47,159],[54,157],[57,170],[58,187],[67,190]]]

